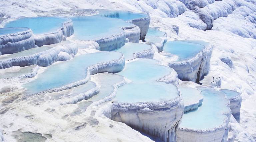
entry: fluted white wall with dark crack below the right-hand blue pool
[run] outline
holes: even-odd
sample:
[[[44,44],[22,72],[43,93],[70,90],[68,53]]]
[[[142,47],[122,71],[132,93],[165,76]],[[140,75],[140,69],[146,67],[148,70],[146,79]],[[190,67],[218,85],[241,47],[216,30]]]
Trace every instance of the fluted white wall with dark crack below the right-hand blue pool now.
[[[208,73],[213,47],[205,46],[195,57],[188,60],[173,61],[168,63],[178,73],[182,81],[193,81],[199,83],[201,78]]]

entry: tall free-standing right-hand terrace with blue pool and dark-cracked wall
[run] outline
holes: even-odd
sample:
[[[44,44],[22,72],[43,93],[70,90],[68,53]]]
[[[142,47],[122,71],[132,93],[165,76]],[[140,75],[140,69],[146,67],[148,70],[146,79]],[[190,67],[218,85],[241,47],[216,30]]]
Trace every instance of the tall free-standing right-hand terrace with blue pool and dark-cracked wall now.
[[[203,41],[169,41],[160,54],[182,81],[199,83],[208,73],[212,46]]]

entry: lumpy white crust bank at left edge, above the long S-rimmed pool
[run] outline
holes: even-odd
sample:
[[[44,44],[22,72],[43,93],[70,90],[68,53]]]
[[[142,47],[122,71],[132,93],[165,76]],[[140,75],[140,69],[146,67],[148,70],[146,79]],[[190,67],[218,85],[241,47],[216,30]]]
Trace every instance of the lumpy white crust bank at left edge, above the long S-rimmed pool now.
[[[0,61],[0,69],[10,68],[12,66],[30,66],[30,65],[38,65],[47,67],[54,62],[58,61],[58,54],[61,52],[66,52],[69,55],[76,55],[78,51],[77,47],[69,47],[69,46],[56,46],[49,50],[39,52],[30,56],[10,58],[6,60]]]

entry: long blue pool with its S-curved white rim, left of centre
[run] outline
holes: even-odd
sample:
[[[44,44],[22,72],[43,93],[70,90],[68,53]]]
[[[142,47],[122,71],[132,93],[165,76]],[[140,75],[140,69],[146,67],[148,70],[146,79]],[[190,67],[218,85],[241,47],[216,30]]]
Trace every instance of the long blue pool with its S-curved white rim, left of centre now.
[[[25,94],[28,97],[35,93],[62,91],[87,83],[92,74],[119,72],[123,70],[124,63],[125,59],[120,52],[83,54],[49,66],[35,80],[24,84],[23,87],[27,89]]]

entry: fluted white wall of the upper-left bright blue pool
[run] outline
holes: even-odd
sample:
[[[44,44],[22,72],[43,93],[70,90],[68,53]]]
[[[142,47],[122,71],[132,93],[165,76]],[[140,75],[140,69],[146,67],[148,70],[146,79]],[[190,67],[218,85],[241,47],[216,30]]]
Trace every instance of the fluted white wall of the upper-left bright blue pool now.
[[[35,35],[35,45],[40,47],[43,45],[50,45],[60,43],[62,40],[66,40],[67,37],[74,34],[74,27],[72,20],[64,22],[62,27],[58,28],[57,31]]]

